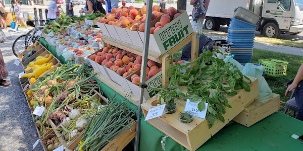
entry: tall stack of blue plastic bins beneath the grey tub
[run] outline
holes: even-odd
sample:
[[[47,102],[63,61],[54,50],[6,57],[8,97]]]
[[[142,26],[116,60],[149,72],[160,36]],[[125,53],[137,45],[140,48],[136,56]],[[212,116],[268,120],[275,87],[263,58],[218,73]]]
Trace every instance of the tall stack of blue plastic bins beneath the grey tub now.
[[[256,25],[231,18],[227,40],[232,42],[230,53],[240,63],[251,61]]]

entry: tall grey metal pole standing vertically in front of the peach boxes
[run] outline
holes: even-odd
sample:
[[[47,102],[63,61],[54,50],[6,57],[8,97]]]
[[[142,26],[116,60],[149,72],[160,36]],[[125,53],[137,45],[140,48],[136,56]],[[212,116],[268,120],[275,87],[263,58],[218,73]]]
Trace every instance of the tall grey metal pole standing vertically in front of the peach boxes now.
[[[146,79],[146,67],[147,67],[147,57],[148,57],[148,46],[149,46],[149,34],[150,34],[150,22],[151,22],[151,7],[153,6],[153,0],[148,0],[146,6],[146,19],[145,19],[145,29],[144,29],[144,43],[143,43],[143,53],[142,53],[142,68],[141,68],[141,78],[140,78],[140,98],[137,113],[137,127],[136,127],[136,139],[134,150],[139,150],[140,142],[140,121],[141,121],[141,104],[143,102],[143,92],[144,88],[147,87],[145,84]],[[142,70],[143,69],[143,70]]]

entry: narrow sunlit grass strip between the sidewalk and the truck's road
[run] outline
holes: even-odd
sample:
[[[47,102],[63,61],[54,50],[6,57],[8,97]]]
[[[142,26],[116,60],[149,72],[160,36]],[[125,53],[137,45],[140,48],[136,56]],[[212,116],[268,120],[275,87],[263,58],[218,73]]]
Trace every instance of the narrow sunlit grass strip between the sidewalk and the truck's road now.
[[[203,32],[209,33],[209,34],[217,34],[217,35],[227,35],[225,32],[221,31],[214,31],[214,30],[207,30],[203,29]],[[303,48],[303,43],[301,42],[295,42],[291,40],[284,40],[284,39],[277,39],[277,38],[268,38],[268,37],[255,37],[255,41],[258,42],[265,42],[265,43],[271,43],[271,44],[277,44],[277,45],[283,45],[283,46],[290,46],[290,47],[296,47],[296,48]]]

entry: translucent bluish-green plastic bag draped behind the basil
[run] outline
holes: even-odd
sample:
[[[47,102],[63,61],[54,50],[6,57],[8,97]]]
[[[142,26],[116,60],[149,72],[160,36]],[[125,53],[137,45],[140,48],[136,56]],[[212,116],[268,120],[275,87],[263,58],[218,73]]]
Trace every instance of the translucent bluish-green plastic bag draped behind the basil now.
[[[268,99],[272,96],[272,90],[269,88],[265,78],[262,76],[263,70],[263,66],[257,66],[252,63],[246,63],[243,70],[241,71],[243,75],[248,75],[250,77],[255,77],[258,79],[259,97],[257,98],[257,100]]]

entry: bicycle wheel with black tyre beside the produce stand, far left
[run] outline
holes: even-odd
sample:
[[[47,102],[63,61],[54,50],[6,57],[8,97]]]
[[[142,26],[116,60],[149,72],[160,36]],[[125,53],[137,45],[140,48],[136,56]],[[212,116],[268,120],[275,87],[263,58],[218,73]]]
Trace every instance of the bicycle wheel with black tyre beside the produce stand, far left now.
[[[13,53],[18,57],[25,49],[33,44],[32,35],[26,34],[18,37],[12,46]]]

